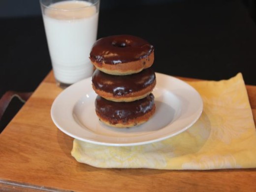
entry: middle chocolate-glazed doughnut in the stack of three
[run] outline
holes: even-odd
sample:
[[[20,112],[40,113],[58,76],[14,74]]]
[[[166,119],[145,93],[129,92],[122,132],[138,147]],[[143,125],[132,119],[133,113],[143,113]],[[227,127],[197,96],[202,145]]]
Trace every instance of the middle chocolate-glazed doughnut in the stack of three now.
[[[156,74],[151,67],[130,75],[109,75],[96,69],[92,82],[97,95],[115,102],[130,102],[153,91]]]

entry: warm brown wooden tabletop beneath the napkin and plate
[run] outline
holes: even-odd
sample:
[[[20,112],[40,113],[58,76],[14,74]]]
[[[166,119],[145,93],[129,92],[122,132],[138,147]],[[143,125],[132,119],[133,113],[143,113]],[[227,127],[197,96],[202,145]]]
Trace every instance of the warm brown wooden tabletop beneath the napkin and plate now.
[[[73,139],[50,117],[61,91],[50,72],[0,134],[1,191],[256,191],[256,169],[103,169],[77,162]],[[255,118],[256,86],[247,91]]]

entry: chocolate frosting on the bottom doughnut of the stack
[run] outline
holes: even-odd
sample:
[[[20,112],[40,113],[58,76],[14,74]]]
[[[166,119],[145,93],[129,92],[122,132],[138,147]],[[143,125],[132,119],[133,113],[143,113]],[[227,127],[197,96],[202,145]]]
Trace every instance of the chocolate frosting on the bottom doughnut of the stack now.
[[[152,110],[153,106],[154,95],[152,93],[132,102],[114,102],[101,96],[97,96],[95,100],[96,112],[107,118],[111,124],[117,124],[120,120],[125,123],[129,119],[142,116]]]

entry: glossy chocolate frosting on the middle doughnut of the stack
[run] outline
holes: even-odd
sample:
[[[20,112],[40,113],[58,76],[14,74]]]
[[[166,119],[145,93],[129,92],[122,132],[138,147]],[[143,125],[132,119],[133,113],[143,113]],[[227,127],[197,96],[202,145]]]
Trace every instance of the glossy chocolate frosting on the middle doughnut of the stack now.
[[[156,80],[154,70],[146,68],[131,75],[109,75],[96,69],[92,82],[96,89],[111,93],[113,96],[124,96],[152,85]]]

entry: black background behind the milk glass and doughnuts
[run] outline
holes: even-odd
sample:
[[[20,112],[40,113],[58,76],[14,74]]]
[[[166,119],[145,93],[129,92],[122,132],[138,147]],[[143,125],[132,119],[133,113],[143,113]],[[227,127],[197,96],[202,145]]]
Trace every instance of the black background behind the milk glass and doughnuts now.
[[[101,0],[97,36],[148,40],[156,72],[207,80],[242,72],[256,85],[254,7],[254,0]],[[0,97],[34,91],[51,70],[39,0],[0,0],[0,38]],[[6,113],[0,129],[16,112]]]

